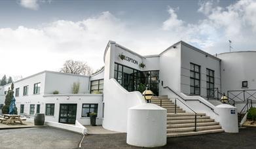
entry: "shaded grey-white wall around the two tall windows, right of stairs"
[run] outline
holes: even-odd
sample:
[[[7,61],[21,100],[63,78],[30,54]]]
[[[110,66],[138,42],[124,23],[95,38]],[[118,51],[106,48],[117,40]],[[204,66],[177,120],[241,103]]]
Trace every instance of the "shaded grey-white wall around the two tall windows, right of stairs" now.
[[[206,69],[214,71],[214,88],[221,89],[221,60],[210,54],[194,50],[189,44],[181,44],[181,92],[190,94],[190,63],[200,65],[200,95],[207,97]]]

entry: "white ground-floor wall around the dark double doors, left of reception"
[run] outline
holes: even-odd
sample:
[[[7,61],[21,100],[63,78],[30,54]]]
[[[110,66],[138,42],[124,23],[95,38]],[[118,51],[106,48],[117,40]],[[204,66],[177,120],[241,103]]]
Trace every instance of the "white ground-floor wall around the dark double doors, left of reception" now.
[[[43,104],[43,111],[45,113],[45,105],[47,103],[54,103],[54,116],[45,116],[46,121],[59,122],[60,104],[77,104],[77,120],[82,125],[90,125],[90,117],[82,117],[82,104],[98,104],[98,116],[96,125],[102,124],[102,94],[60,94],[60,95],[44,95],[45,103]]]

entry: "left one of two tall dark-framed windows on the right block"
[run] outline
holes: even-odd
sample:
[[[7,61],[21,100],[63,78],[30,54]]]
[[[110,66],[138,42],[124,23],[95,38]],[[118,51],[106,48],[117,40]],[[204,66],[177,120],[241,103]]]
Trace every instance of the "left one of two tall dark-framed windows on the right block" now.
[[[191,70],[191,65],[193,65],[193,70]],[[195,71],[195,67],[198,67],[198,72]],[[195,63],[190,63],[189,65],[190,71],[190,94],[191,95],[201,95],[201,66],[197,65]],[[194,77],[191,76],[191,73],[194,74]],[[196,74],[199,74],[199,78],[196,78]],[[193,81],[193,84],[191,84],[191,80]],[[199,82],[198,86],[196,86],[196,80]],[[194,88],[193,93],[191,92],[191,88]],[[199,89],[199,93],[196,93],[196,88]]]

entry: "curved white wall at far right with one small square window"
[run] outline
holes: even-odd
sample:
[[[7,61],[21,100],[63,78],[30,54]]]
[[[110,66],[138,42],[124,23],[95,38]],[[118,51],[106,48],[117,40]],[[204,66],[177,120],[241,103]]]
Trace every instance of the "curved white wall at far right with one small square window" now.
[[[230,52],[217,56],[221,59],[221,89],[256,89],[256,52]],[[242,81],[248,81],[248,88],[242,88]]]

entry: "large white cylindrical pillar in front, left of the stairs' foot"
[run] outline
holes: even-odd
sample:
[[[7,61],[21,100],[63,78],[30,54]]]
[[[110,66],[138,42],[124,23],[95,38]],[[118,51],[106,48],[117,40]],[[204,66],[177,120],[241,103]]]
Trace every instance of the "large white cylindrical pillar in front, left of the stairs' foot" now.
[[[157,147],[166,144],[166,109],[143,103],[128,110],[127,140],[133,146]]]

